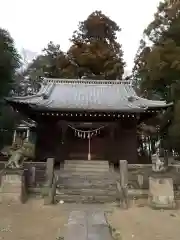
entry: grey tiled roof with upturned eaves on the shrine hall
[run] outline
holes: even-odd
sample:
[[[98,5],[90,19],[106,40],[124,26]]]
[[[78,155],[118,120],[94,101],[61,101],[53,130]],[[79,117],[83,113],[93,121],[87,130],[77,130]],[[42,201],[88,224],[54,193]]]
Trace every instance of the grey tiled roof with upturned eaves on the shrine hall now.
[[[44,79],[33,96],[14,97],[9,102],[48,110],[142,112],[166,107],[165,101],[138,97],[128,81]]]

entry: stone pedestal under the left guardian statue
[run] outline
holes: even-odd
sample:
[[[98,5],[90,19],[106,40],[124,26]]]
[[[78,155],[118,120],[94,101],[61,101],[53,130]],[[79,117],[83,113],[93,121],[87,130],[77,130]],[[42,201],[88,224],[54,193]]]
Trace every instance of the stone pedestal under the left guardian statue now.
[[[24,200],[24,176],[22,170],[10,169],[1,176],[0,202],[22,203]]]

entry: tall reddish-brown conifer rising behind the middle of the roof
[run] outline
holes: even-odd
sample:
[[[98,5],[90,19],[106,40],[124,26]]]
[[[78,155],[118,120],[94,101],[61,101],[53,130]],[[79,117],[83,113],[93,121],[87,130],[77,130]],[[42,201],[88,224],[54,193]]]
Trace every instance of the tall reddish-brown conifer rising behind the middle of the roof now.
[[[79,77],[122,78],[125,63],[117,32],[120,32],[119,26],[100,11],[79,23],[67,52]]]

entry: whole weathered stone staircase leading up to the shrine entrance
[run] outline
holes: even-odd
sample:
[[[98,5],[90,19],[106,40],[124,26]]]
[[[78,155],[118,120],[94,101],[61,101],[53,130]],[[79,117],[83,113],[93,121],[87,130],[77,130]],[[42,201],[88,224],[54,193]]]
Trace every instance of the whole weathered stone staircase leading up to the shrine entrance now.
[[[67,160],[58,173],[56,201],[106,203],[116,201],[116,179],[107,161]]]

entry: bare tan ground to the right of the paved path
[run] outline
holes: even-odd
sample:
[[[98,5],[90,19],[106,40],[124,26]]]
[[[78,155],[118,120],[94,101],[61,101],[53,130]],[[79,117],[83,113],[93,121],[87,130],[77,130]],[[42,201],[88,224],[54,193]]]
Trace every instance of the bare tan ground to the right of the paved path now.
[[[122,240],[179,240],[180,210],[152,210],[149,207],[114,209],[108,214],[111,227]]]

